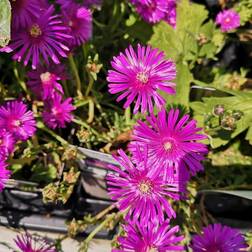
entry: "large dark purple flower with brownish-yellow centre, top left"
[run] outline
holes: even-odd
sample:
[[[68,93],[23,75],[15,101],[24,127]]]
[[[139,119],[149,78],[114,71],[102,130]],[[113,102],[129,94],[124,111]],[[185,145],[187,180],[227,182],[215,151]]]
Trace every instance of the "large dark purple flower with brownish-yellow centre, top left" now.
[[[32,20],[24,29],[15,31],[11,43],[2,48],[2,52],[13,52],[13,59],[23,61],[26,66],[31,60],[36,69],[41,58],[49,64],[49,59],[59,64],[60,57],[67,57],[66,40],[72,37],[68,27],[62,24],[58,15],[53,15],[54,7],[50,6],[38,18]]]

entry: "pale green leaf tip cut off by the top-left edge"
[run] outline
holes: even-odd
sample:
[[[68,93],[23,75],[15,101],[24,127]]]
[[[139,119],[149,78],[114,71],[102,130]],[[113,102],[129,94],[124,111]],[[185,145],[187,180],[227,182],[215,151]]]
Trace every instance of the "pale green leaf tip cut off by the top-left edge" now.
[[[0,47],[10,41],[11,6],[8,0],[0,1]]]

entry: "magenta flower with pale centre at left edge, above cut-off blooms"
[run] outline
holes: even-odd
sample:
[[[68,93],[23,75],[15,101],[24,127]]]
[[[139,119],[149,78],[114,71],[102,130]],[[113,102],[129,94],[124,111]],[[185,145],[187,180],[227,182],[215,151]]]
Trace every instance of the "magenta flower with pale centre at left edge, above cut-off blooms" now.
[[[15,140],[25,141],[36,131],[32,111],[22,101],[9,101],[0,107],[0,129],[5,129]]]

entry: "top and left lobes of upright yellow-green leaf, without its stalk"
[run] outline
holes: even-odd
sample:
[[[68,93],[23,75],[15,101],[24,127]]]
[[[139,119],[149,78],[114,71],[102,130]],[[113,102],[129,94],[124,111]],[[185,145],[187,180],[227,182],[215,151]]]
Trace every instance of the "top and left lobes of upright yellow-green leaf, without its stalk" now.
[[[175,61],[192,60],[198,50],[197,37],[208,12],[203,5],[181,1],[177,6],[177,27],[173,29],[166,22],[154,27],[150,40],[153,47],[165,51],[167,58]]]

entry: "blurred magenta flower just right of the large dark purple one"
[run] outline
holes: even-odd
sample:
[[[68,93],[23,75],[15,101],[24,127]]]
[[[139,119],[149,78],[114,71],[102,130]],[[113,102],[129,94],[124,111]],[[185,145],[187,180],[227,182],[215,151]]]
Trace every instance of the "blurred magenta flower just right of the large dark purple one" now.
[[[90,10],[78,4],[63,8],[65,24],[69,26],[72,36],[70,46],[79,46],[92,36],[92,14]]]

